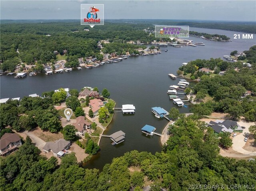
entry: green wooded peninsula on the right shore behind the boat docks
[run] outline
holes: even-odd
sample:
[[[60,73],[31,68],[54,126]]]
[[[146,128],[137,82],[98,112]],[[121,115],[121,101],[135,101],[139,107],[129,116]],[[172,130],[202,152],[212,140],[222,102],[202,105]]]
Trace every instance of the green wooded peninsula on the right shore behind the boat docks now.
[[[185,75],[190,73],[193,79],[200,77],[200,82],[191,87],[196,100],[201,102],[206,96],[213,98],[196,104],[192,112],[200,115],[210,115],[213,111],[224,112],[234,120],[244,116],[248,121],[256,121],[256,45],[244,53],[245,61],[252,64],[251,68],[244,67],[240,61],[227,62],[220,58],[197,59],[180,67]],[[214,74],[198,70],[203,67],[214,70]],[[226,71],[226,74],[220,76],[220,71]],[[251,95],[244,96],[246,91],[252,92]]]

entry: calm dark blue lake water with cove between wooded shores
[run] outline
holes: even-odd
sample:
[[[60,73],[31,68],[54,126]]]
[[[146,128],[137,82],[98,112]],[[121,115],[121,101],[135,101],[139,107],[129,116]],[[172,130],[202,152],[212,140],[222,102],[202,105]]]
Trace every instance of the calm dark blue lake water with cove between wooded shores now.
[[[190,31],[218,33],[227,35],[232,42],[208,41],[197,37],[188,39],[194,42],[204,42],[205,46],[197,47],[161,47],[162,53],[158,55],[130,57],[119,63],[101,65],[93,69],[74,69],[63,74],[38,74],[34,77],[16,79],[14,76],[2,75],[0,77],[0,97],[15,98],[30,94],[41,95],[44,91],[52,91],[60,87],[78,89],[82,87],[98,87],[101,91],[107,88],[110,96],[116,101],[116,107],[122,104],[134,104],[134,115],[123,115],[116,112],[111,124],[104,134],[112,134],[118,130],[126,133],[126,139],[117,146],[111,145],[110,138],[103,137],[100,142],[100,152],[84,166],[87,168],[102,169],[115,157],[122,156],[131,150],[147,151],[154,154],[161,151],[159,136],[145,136],[141,128],[145,125],[156,127],[156,132],[162,132],[168,121],[154,117],[151,107],[160,106],[167,111],[175,107],[167,95],[170,85],[177,85],[179,79],[172,80],[168,73],[176,74],[180,65],[195,59],[210,59],[229,55],[231,51],[244,51],[256,43],[254,39],[233,39],[239,32],[190,28]],[[168,49],[168,52],[164,52]],[[183,97],[183,95],[180,95]],[[188,108],[179,108],[181,113],[189,112]]]

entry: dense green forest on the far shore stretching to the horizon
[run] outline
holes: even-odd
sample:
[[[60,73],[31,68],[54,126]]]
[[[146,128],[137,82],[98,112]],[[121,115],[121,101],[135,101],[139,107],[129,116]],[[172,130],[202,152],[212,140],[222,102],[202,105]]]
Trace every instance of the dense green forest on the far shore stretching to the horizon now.
[[[105,44],[104,53],[113,53],[114,51],[117,52],[117,55],[124,53],[124,51],[138,53],[135,50],[138,45],[126,45],[126,42],[150,43],[154,40],[158,41],[159,38],[154,37],[154,22],[156,21],[149,20],[144,23],[140,20],[136,23],[111,21],[106,22],[104,26],[95,28],[81,26],[79,22],[71,21],[42,21],[40,23],[26,23],[29,21],[18,23],[10,21],[11,23],[8,23],[8,21],[4,21],[0,28],[1,69],[12,72],[18,64],[24,63],[27,65],[35,64],[33,70],[42,72],[44,71],[44,64],[54,63],[57,60],[54,51],[63,54],[64,50],[67,51],[66,55],[68,56],[66,67],[77,67],[79,65],[77,59],[80,57],[92,56],[102,59],[98,41],[107,39],[110,44]],[[162,21],[159,24],[161,23]],[[170,22],[167,20],[165,25],[167,24],[189,25],[189,22]],[[193,23],[191,24],[194,26]],[[205,27],[206,24],[198,23],[199,26],[195,27]],[[247,29],[252,32],[256,31],[254,25],[236,25],[245,28],[244,32]],[[216,28],[224,29],[221,26],[226,27],[226,24],[216,24],[216,26]],[[209,34],[205,35],[212,37]],[[219,35],[219,37],[228,39],[224,35]],[[171,41],[169,38],[161,40]],[[22,65],[22,69],[24,67],[25,65]]]

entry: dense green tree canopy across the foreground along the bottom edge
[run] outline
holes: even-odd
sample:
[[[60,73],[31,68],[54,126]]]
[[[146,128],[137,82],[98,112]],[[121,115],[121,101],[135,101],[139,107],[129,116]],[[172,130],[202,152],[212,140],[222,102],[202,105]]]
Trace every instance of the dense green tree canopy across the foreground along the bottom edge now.
[[[219,139],[198,116],[180,119],[169,128],[170,138],[162,152],[136,150],[114,158],[103,171],[84,169],[74,154],[62,158],[39,155],[40,150],[27,137],[14,154],[1,159],[1,190],[4,191],[173,191],[204,189],[204,185],[256,185],[256,162],[224,158],[219,154]],[[220,190],[216,188],[208,190]],[[234,189],[236,190],[236,189]]]

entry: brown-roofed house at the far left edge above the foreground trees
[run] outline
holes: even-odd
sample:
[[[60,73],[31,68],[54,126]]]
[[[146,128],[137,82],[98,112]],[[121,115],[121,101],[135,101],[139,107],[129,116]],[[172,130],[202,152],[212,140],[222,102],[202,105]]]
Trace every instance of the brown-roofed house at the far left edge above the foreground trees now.
[[[20,137],[15,133],[5,133],[0,139],[0,155],[7,156],[22,146]]]

